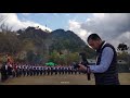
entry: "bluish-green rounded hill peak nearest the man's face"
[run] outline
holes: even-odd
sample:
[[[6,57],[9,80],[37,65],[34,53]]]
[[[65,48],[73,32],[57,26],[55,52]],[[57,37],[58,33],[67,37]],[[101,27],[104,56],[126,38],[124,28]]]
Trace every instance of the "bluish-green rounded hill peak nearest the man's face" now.
[[[56,29],[50,34],[49,39],[52,40],[51,49],[57,51],[67,49],[72,52],[80,51],[86,42],[74,32]]]

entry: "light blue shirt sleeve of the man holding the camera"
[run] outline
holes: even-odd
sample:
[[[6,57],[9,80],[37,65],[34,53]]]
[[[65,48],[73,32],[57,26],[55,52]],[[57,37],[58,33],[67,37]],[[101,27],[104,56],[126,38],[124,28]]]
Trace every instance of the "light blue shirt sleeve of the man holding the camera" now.
[[[89,65],[92,73],[103,73],[105,72],[113,60],[114,51],[110,47],[105,47],[102,52],[101,63],[99,65]]]

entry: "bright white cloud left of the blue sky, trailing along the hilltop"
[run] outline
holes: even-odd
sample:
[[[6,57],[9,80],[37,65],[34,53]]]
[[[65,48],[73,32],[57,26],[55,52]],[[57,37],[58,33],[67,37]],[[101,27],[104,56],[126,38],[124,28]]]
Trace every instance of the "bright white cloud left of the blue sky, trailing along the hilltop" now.
[[[28,26],[39,26],[39,28],[41,29],[48,29],[48,30],[52,30],[39,23],[35,23],[35,22],[31,22],[31,21],[21,21],[18,20],[17,17],[17,14],[16,13],[0,13],[0,16],[8,16],[8,20],[4,21],[4,23],[9,26],[9,27],[12,27],[12,30],[17,30],[20,28],[26,28]]]

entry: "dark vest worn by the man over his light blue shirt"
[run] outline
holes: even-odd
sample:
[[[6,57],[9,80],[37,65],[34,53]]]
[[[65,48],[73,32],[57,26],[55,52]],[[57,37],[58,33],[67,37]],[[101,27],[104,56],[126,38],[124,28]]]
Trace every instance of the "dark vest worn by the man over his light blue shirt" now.
[[[105,47],[110,47],[114,50],[114,57],[107,71],[105,71],[104,73],[94,73],[95,85],[119,85],[116,50],[110,44],[104,45],[104,42],[105,41],[103,41],[100,49],[96,50],[98,53],[96,65],[99,65],[101,62],[102,51]]]

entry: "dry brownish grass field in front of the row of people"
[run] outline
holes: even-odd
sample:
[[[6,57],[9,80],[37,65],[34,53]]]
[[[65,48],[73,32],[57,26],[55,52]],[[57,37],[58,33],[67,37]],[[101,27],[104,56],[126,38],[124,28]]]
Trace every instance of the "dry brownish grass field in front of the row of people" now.
[[[130,73],[119,73],[121,85],[130,85]],[[94,76],[87,81],[87,75],[42,75],[9,78],[1,85],[94,85]]]

